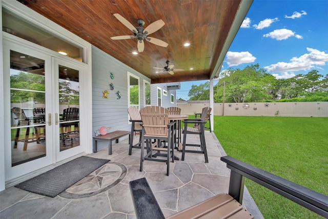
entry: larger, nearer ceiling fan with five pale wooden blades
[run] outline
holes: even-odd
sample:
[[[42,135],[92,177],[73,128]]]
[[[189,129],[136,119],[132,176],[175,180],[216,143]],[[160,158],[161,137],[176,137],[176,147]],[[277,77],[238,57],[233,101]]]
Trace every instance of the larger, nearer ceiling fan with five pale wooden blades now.
[[[169,44],[161,41],[160,39],[154,38],[154,37],[149,37],[149,34],[152,34],[159,30],[161,27],[165,25],[165,23],[159,19],[158,21],[155,21],[154,23],[151,23],[148,25],[148,27],[144,28],[142,26],[145,25],[145,22],[142,21],[141,19],[138,19],[137,24],[139,27],[134,27],[130,22],[127,21],[126,18],[122,17],[120,14],[114,14],[114,16],[120,21],[122,24],[124,24],[127,28],[129,28],[132,32],[133,35],[122,35],[122,36],[113,36],[111,39],[133,39],[137,38],[138,43],[137,43],[137,48],[138,52],[144,51],[145,44],[144,44],[144,39],[146,39],[148,42],[153,43],[157,46],[162,46],[162,47],[167,47]]]

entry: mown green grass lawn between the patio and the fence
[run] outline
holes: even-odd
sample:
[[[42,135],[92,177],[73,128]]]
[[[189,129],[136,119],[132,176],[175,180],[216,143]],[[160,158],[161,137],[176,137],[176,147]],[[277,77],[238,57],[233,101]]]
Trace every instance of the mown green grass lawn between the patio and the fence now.
[[[328,117],[214,116],[228,155],[328,195]],[[264,218],[322,218],[253,181],[246,186]]]

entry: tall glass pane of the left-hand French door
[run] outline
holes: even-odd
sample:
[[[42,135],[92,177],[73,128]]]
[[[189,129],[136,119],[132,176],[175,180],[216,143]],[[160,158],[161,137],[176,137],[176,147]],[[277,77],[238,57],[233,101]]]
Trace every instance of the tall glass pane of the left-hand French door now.
[[[10,50],[11,165],[46,156],[45,61]]]

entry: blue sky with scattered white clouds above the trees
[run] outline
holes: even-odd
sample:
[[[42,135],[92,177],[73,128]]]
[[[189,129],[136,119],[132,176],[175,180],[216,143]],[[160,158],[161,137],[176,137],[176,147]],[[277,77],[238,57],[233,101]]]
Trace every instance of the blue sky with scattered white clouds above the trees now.
[[[328,1],[254,0],[221,71],[255,64],[276,78],[328,74]],[[191,86],[205,82],[182,82],[177,98],[188,100]]]

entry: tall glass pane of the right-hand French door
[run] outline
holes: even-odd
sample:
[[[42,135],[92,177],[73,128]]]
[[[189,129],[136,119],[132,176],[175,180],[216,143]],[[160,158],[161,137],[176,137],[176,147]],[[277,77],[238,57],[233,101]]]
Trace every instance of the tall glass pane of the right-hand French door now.
[[[59,65],[60,151],[80,145],[79,71]]]

